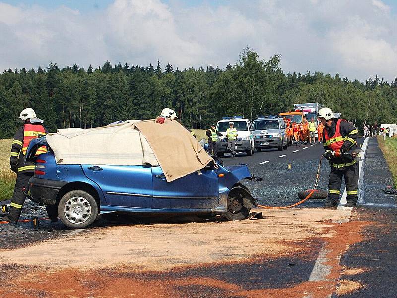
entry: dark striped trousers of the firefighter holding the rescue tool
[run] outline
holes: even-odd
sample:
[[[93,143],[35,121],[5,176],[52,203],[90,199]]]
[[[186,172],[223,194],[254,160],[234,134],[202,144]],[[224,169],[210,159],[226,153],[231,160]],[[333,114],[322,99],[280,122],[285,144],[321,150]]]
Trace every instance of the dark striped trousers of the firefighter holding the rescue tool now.
[[[356,204],[358,198],[358,175],[358,162],[346,167],[344,170],[331,167],[328,183],[328,202],[338,202],[342,178],[344,176],[347,192],[346,201]]]

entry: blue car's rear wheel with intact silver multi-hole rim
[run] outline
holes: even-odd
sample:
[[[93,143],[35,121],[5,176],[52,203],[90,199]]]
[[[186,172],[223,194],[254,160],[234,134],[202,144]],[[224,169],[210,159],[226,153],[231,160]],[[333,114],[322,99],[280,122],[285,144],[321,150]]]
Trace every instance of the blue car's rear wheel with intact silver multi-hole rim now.
[[[92,224],[98,215],[98,203],[84,190],[66,193],[58,203],[61,222],[69,228],[85,228]]]

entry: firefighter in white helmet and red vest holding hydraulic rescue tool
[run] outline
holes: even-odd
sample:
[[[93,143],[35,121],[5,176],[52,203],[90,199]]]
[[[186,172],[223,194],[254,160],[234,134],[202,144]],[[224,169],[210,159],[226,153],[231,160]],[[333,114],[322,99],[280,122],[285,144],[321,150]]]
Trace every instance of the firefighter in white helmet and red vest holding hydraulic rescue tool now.
[[[356,142],[358,130],[346,120],[335,118],[329,108],[320,109],[317,118],[320,118],[325,127],[323,130],[324,155],[331,165],[328,199],[324,207],[337,205],[343,176],[347,191],[347,203],[344,206],[353,207],[358,198],[358,162],[344,160],[341,156],[345,151],[358,148]]]

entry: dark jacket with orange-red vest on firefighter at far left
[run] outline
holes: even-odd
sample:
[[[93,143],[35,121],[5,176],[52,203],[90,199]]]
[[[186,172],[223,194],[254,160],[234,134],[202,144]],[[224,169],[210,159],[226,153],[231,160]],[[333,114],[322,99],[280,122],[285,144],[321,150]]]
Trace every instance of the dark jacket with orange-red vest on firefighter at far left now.
[[[29,130],[25,131],[25,127]],[[11,145],[10,165],[18,167],[18,174],[34,172],[34,162],[24,162],[25,153],[30,140],[45,136],[48,131],[40,123],[24,124],[15,133],[14,140]],[[24,138],[26,140],[24,140]],[[30,139],[30,140],[29,140]],[[29,142],[27,142],[29,140]],[[37,150],[36,155],[46,152],[44,147]]]

